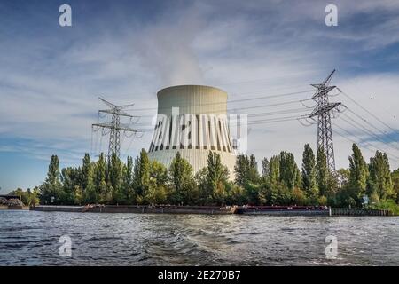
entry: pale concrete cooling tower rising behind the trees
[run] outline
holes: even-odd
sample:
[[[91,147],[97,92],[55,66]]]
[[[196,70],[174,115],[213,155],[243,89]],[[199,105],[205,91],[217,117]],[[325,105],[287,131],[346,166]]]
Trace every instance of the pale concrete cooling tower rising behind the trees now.
[[[150,160],[168,167],[180,152],[197,172],[207,167],[209,151],[215,151],[233,178],[236,156],[227,121],[227,93],[214,87],[182,85],[162,89],[157,97]]]

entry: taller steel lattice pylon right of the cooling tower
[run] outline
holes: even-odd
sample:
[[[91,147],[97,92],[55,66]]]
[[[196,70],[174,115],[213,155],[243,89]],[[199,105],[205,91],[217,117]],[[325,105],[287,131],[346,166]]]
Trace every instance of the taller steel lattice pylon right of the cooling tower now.
[[[329,85],[334,73],[335,70],[325,78],[323,83],[311,84],[317,88],[316,94],[312,97],[317,101],[317,106],[309,115],[309,118],[317,116],[317,148],[322,148],[325,152],[328,170],[332,173],[335,173],[335,157],[332,142],[331,111],[340,106],[340,103],[330,103],[328,100],[328,92],[335,88],[335,86]]]

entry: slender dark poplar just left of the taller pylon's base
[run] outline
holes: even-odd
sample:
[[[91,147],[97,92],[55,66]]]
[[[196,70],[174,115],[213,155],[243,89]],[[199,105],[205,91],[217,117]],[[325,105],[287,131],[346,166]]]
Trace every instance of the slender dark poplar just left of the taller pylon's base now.
[[[309,144],[306,144],[302,158],[302,188],[310,198],[318,195],[316,177],[315,154],[313,154],[313,150]]]

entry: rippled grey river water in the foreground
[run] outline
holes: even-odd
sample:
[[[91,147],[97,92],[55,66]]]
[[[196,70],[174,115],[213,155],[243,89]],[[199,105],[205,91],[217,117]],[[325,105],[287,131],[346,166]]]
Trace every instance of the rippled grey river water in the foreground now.
[[[71,257],[59,255],[63,235]],[[337,240],[334,259],[325,254],[329,235]],[[0,265],[383,264],[399,265],[399,217],[0,210]]]

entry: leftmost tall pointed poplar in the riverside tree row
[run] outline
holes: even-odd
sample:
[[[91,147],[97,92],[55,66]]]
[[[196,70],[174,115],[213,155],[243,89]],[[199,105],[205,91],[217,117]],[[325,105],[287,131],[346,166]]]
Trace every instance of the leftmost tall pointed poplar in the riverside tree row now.
[[[39,199],[42,204],[62,203],[64,192],[59,178],[59,157],[51,155],[47,177],[39,189]]]

